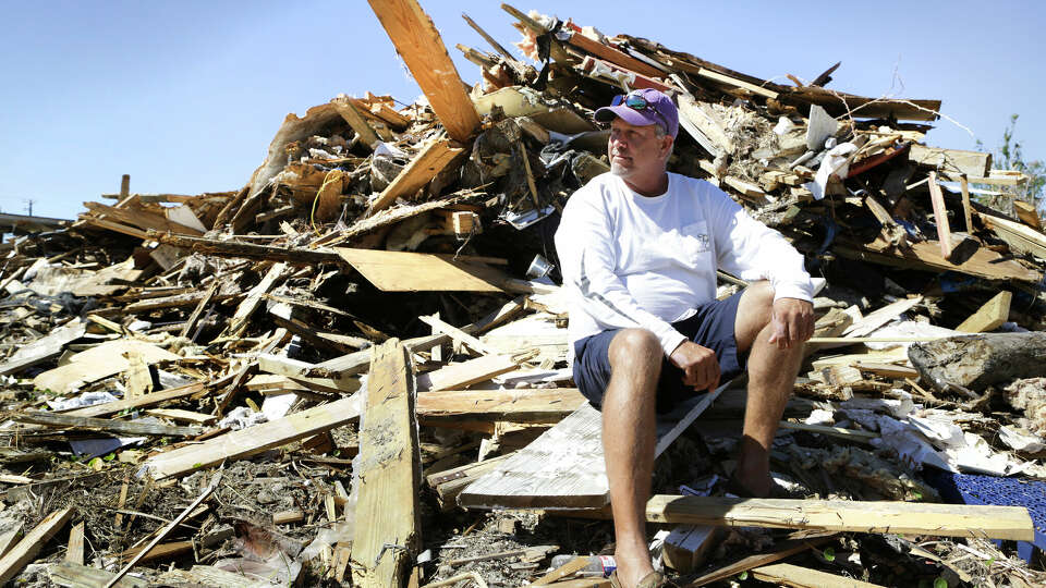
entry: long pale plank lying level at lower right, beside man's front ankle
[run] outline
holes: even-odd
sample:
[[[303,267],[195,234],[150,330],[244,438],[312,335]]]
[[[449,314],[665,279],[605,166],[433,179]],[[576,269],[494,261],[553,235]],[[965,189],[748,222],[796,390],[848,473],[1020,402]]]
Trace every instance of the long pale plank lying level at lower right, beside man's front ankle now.
[[[1032,518],[1023,506],[971,506],[844,500],[733,499],[658,494],[646,504],[652,523],[729,527],[890,532],[1031,541]]]

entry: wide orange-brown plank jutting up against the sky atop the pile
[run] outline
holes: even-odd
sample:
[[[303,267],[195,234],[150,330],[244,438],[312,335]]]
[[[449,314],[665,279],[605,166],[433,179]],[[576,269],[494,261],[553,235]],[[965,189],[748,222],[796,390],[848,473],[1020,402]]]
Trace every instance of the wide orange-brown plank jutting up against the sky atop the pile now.
[[[433,20],[416,0],[368,1],[447,134],[467,142],[479,128],[479,114]]]

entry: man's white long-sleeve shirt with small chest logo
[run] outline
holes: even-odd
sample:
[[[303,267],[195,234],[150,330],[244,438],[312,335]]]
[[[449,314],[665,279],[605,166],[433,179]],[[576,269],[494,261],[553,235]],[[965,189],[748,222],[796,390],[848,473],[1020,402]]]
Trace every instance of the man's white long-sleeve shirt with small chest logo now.
[[[768,280],[774,299],[811,301],[803,256],[703,180],[668,174],[654,197],[604,173],[570,197],[556,232],[570,290],[573,343],[607,329],[650,330],[666,355],[686,339],[672,322],[716,296],[716,270]]]

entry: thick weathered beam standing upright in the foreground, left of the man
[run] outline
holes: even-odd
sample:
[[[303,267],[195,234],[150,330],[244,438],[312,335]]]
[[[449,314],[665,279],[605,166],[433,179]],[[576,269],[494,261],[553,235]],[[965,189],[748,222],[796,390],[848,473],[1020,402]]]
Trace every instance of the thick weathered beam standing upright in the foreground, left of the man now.
[[[375,348],[360,430],[360,502],[367,524],[352,543],[353,585],[403,586],[421,546],[421,455],[406,348],[390,339]],[[390,549],[390,543],[394,548]]]

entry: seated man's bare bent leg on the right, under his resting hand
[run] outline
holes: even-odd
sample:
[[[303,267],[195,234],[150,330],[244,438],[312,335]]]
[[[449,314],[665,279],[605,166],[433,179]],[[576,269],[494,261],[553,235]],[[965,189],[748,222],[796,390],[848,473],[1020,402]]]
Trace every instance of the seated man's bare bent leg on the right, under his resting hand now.
[[[803,344],[769,343],[774,290],[767,282],[741,295],[734,333],[738,351],[749,352],[749,396],[734,479],[756,497],[770,493],[770,445],[803,360]]]

